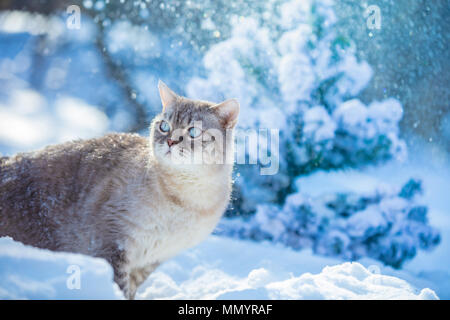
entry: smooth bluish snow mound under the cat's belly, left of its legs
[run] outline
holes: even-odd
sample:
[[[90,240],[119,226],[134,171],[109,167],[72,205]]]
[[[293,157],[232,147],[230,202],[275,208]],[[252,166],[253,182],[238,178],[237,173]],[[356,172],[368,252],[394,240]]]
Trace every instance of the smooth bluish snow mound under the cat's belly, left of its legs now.
[[[112,268],[102,259],[0,238],[0,300],[117,299],[122,293],[112,279]]]

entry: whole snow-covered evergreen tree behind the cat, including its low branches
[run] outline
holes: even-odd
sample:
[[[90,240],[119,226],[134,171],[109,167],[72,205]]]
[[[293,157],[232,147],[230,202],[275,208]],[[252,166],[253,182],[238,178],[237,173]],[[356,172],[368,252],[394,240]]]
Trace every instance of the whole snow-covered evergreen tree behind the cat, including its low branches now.
[[[404,159],[400,102],[389,98],[366,105],[357,98],[373,72],[358,61],[351,40],[334,31],[331,1],[292,0],[272,12],[271,24],[236,18],[230,38],[205,54],[204,76],[186,87],[191,97],[237,98],[243,129],[280,130],[278,174],[262,176],[255,166],[238,167],[229,216],[256,214],[247,223],[226,222],[220,232],[312,246],[351,259],[371,256],[400,267],[418,248],[439,242],[427,225],[426,208],[414,205],[412,195],[305,200],[294,184],[315,170]],[[238,137],[238,143],[245,141]]]

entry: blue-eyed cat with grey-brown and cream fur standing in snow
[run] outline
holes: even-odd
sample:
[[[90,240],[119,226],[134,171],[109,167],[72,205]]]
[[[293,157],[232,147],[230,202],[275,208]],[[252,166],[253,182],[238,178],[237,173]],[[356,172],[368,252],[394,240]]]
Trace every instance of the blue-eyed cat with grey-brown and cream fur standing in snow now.
[[[158,88],[149,138],[110,133],[0,158],[0,237],[104,258],[134,299],[159,264],[209,235],[230,199],[239,103]]]

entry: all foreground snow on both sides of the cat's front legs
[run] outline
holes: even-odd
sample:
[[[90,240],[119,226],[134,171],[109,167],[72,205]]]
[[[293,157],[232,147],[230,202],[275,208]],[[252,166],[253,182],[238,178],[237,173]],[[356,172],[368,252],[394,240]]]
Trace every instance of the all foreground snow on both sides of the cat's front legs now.
[[[71,270],[77,268],[80,288],[70,289]],[[122,298],[112,282],[111,267],[101,259],[0,239],[0,299]],[[431,289],[418,289],[398,277],[381,274],[379,268],[340,263],[307,250],[296,252],[270,243],[210,236],[160,266],[139,288],[137,299],[438,297]]]

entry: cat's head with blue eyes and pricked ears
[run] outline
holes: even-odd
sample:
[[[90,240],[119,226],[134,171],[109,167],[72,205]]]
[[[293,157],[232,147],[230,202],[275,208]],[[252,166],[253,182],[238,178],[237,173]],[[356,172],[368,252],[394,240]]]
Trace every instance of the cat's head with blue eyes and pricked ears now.
[[[235,99],[222,103],[191,100],[158,83],[162,112],[152,121],[150,143],[163,165],[195,169],[233,162],[233,128],[239,114]]]

